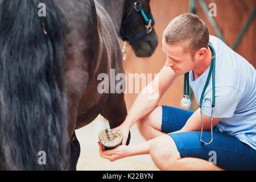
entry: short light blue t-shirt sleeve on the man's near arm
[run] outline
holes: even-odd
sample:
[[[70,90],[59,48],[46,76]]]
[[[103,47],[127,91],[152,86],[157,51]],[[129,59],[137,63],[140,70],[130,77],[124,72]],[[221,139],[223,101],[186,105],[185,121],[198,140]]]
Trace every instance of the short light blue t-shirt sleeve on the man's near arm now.
[[[242,92],[229,86],[218,86],[215,89],[215,107],[213,118],[231,118],[238,103],[242,99]],[[203,100],[204,115],[210,117],[212,113],[212,90],[205,94]]]

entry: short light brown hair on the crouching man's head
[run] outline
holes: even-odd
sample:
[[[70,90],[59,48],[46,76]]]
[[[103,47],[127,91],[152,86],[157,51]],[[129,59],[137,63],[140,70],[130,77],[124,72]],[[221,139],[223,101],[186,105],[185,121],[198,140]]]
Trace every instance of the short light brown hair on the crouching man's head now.
[[[170,45],[184,46],[184,52],[194,56],[200,48],[208,48],[209,31],[199,16],[186,13],[174,18],[163,32],[164,40]]]

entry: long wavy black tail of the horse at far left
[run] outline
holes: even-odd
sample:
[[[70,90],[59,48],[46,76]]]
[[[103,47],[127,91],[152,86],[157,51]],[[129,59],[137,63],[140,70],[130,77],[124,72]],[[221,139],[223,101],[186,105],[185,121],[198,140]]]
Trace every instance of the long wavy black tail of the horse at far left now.
[[[46,5],[46,17],[39,16],[44,14],[39,2]],[[60,13],[52,0],[2,1],[0,161],[7,170],[67,167],[69,139]]]

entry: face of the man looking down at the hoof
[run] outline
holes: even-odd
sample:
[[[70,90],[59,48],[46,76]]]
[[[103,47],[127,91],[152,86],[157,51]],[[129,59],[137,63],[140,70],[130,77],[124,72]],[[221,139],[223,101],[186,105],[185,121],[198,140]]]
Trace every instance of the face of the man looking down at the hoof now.
[[[174,46],[167,44],[162,40],[163,51],[166,53],[166,67],[170,67],[177,75],[183,75],[196,67],[196,61],[190,53],[184,52],[182,46]]]

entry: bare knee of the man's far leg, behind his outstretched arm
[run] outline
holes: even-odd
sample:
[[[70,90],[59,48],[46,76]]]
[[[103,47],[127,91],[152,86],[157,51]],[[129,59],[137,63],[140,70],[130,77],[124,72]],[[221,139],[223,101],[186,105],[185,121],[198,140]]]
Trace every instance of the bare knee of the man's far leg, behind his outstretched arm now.
[[[146,140],[151,140],[164,135],[164,133],[161,131],[162,106],[156,106],[151,113],[137,122],[137,126],[142,137],[144,137]]]

